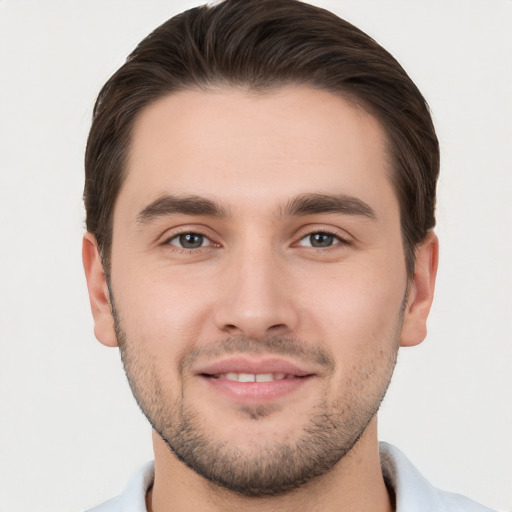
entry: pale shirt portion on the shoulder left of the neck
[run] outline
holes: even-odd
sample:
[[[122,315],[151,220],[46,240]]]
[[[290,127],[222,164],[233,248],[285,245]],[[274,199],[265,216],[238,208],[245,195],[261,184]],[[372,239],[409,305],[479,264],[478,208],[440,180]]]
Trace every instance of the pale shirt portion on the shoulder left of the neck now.
[[[146,512],[146,493],[154,478],[154,463],[148,462],[133,475],[123,494],[87,512]]]

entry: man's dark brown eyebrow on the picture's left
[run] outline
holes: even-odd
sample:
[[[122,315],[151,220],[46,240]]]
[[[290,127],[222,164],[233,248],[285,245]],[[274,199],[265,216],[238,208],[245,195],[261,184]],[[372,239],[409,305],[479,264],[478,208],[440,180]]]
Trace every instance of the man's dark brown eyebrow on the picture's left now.
[[[159,217],[175,214],[227,217],[226,210],[210,199],[200,196],[165,195],[140,211],[137,215],[137,223],[147,224]]]

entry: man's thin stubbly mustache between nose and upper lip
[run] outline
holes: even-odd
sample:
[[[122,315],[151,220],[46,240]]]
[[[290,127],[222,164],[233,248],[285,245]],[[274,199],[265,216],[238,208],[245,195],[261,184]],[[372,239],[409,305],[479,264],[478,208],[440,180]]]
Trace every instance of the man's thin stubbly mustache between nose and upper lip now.
[[[293,357],[305,363],[315,363],[326,368],[329,373],[335,370],[334,358],[323,347],[307,341],[286,337],[272,336],[262,339],[230,336],[210,345],[195,347],[184,354],[179,363],[180,373],[198,359],[215,359],[231,354],[276,354]]]

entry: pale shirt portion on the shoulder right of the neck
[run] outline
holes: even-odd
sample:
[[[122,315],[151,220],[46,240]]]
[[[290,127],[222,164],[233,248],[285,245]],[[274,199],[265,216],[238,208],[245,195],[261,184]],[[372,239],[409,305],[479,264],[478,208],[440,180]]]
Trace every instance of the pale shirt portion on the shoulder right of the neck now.
[[[396,496],[396,512],[496,512],[432,486],[398,448],[380,443],[382,473]]]

